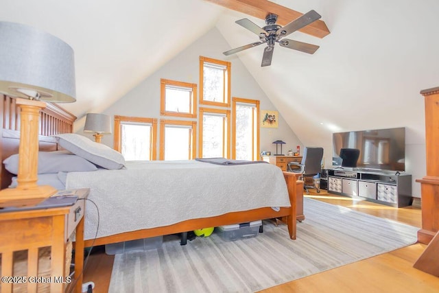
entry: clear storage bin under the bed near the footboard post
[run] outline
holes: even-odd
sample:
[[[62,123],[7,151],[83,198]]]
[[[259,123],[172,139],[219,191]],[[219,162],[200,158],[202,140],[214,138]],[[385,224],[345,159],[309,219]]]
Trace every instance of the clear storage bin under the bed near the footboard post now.
[[[260,226],[262,226],[262,220],[219,226],[215,228],[215,231],[224,241],[229,242],[237,239],[256,237],[259,234]]]

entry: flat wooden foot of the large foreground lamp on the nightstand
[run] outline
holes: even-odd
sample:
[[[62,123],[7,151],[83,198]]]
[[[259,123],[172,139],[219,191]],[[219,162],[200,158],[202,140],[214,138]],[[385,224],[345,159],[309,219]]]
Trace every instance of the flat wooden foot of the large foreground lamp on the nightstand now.
[[[7,188],[0,191],[0,207],[28,207],[43,202],[58,190],[50,185],[32,188]]]

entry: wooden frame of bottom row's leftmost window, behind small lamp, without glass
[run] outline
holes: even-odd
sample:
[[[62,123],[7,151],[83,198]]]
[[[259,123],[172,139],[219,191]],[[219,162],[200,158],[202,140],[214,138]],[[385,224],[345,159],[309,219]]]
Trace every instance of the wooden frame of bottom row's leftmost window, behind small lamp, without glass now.
[[[129,116],[121,116],[115,115],[115,134],[113,136],[113,148],[117,150],[117,152],[121,152],[122,150],[122,142],[121,142],[121,122],[135,122],[135,123],[144,123],[151,124],[152,130],[150,134],[150,156],[151,161],[156,161],[157,156],[157,119],[156,118],[146,118],[146,117],[129,117]]]

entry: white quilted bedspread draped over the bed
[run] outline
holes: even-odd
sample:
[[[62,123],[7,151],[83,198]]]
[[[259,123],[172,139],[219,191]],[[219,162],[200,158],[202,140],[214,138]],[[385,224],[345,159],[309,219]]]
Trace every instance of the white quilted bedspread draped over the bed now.
[[[97,237],[232,211],[290,206],[281,169],[265,163],[127,162],[127,169],[70,172],[66,187],[91,189],[88,198],[99,208]],[[93,239],[96,228],[96,208],[86,202],[84,239]]]

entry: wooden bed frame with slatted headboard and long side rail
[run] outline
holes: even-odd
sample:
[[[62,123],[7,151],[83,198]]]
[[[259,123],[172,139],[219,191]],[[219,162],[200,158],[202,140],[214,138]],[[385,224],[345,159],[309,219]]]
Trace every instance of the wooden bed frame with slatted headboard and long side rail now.
[[[15,99],[3,95],[1,103],[1,135],[0,135],[0,156],[3,162],[11,154],[19,152],[19,108],[15,104]],[[73,121],[76,117],[56,104],[47,103],[47,108],[43,109],[40,116],[40,151],[58,150],[58,145],[54,134],[73,132]],[[108,237],[86,240],[86,247],[93,245],[103,245],[115,242],[123,242],[145,237],[154,237],[174,233],[184,233],[193,231],[198,228],[222,226],[226,224],[235,224],[238,222],[250,222],[255,220],[264,220],[270,218],[281,218],[288,225],[289,237],[296,239],[296,180],[297,174],[283,172],[287,183],[289,200],[292,207],[282,207],[280,211],[274,211],[271,208],[252,209],[250,211],[241,211],[226,213],[211,218],[192,219],[169,226],[157,228],[148,228],[140,231],[121,233]],[[8,187],[11,182],[12,174],[4,169],[1,165],[0,185],[1,189]],[[294,208],[293,208],[294,207]]]

